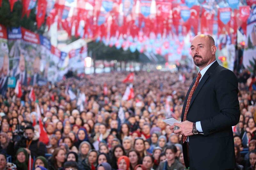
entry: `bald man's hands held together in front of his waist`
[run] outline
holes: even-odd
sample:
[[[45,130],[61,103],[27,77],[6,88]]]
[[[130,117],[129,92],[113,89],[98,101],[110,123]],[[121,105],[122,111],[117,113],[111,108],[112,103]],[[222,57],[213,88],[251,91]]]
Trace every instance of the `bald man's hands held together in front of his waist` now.
[[[176,135],[185,135],[185,136],[191,136],[193,135],[192,130],[193,130],[193,122],[185,121],[180,123],[174,123],[174,126],[180,127],[178,130],[174,130],[174,126],[171,126],[171,132],[175,133]]]

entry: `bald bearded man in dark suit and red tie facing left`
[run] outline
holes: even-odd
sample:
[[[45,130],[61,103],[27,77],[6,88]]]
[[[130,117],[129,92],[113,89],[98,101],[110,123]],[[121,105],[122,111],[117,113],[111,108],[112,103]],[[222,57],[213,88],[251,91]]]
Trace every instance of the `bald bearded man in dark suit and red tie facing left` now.
[[[183,156],[190,170],[236,168],[232,126],[239,121],[238,82],[235,74],[216,61],[210,35],[197,35],[191,42],[199,72],[185,98],[180,127]]]

